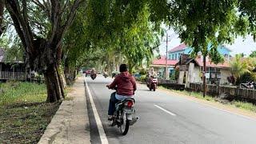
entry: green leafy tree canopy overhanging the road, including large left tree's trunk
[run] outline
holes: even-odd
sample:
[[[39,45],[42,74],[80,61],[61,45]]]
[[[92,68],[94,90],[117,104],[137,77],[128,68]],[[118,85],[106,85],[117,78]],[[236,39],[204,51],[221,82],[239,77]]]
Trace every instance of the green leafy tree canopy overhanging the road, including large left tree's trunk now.
[[[59,66],[74,71],[96,60],[112,67],[127,62],[132,70],[158,50],[162,22],[193,48],[192,54],[202,51],[212,62],[222,62],[218,45],[234,42],[238,34],[255,39],[255,7],[254,0],[0,0],[0,35],[8,12],[30,68],[45,75],[54,102],[61,98]]]

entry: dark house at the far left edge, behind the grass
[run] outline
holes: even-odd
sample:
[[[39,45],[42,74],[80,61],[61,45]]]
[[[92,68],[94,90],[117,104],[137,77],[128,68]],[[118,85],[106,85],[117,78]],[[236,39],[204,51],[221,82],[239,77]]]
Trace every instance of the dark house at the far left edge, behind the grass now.
[[[6,62],[6,51],[0,48],[0,81],[25,80],[26,68],[22,61]]]

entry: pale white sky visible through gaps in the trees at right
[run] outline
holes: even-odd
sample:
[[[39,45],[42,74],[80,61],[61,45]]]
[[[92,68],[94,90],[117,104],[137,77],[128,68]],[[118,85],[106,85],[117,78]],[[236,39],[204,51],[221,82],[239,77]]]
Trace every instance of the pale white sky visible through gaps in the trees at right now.
[[[174,34],[174,30],[169,30],[168,34],[171,35],[170,42],[168,42],[168,50],[171,50],[175,46],[178,46],[181,43],[180,38],[178,38],[178,34]],[[166,38],[163,38],[163,41],[165,41]],[[246,38],[238,37],[234,40],[234,43],[232,45],[225,45],[230,50],[232,50],[231,55],[234,56],[235,54],[246,54],[246,56],[249,56],[251,51],[256,50],[256,42],[254,42],[254,39],[251,36],[247,36]],[[166,55],[166,42],[162,42],[159,46],[160,54]]]

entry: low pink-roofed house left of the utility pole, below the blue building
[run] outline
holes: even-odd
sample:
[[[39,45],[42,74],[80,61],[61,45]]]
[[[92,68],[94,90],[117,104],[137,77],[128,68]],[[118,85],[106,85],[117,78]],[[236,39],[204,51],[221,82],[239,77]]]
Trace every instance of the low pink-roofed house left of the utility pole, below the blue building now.
[[[167,69],[169,74],[173,73],[175,65],[177,63],[178,60],[167,59]],[[156,74],[158,74],[159,77],[163,78],[164,74],[166,74],[166,56],[155,58],[153,62],[151,62],[150,69],[151,68],[154,68]]]

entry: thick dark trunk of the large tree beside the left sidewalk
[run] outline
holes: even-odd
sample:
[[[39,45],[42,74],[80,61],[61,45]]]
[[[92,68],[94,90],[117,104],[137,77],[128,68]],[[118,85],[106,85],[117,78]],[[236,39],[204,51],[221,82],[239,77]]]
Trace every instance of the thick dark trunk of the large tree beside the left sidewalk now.
[[[58,70],[56,70],[56,66],[50,65],[48,69],[44,73],[46,78],[46,86],[47,86],[47,100],[46,102],[58,102],[64,98],[62,94],[62,87],[60,86],[60,82],[58,80]]]

